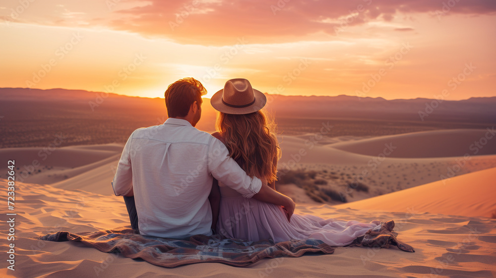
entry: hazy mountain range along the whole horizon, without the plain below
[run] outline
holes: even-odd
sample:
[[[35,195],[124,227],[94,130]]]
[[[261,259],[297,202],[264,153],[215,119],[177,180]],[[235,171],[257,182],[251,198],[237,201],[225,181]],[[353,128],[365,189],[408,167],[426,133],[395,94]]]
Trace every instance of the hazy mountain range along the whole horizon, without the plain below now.
[[[265,108],[276,117],[285,118],[368,118],[409,121],[444,121],[494,123],[496,97],[472,97],[467,100],[395,99],[357,96],[285,96],[269,95]],[[2,101],[60,102],[87,105],[90,111],[132,105],[164,111],[163,98],[141,98],[102,92],[66,89],[0,88]],[[210,100],[205,99],[203,116],[213,116]],[[393,117],[393,118],[391,118]]]

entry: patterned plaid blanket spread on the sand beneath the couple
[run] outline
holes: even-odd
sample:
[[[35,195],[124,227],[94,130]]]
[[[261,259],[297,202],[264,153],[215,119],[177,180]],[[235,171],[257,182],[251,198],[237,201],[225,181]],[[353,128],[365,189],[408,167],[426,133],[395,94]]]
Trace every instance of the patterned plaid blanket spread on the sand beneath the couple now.
[[[40,236],[39,239],[79,241],[102,252],[121,252],[124,257],[141,258],[150,264],[166,268],[205,262],[247,267],[263,258],[301,257],[307,252],[334,252],[334,248],[317,239],[274,244],[271,240],[253,242],[218,235],[194,235],[189,240],[178,240],[143,236],[125,227],[77,234],[59,231]]]

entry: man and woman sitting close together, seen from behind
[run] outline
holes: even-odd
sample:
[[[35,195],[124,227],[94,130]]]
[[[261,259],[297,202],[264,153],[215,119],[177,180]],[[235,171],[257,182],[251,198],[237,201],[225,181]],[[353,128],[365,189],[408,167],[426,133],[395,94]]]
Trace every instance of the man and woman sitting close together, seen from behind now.
[[[247,79],[228,80],[210,100],[220,112],[210,135],[194,127],[204,94],[194,78],[174,82],[165,92],[167,121],[127,140],[112,186],[124,196],[132,228],[165,238],[217,232],[275,243],[315,238],[330,246],[380,230],[376,220],[293,215],[293,200],[275,191],[281,151],[262,110],[265,95]]]

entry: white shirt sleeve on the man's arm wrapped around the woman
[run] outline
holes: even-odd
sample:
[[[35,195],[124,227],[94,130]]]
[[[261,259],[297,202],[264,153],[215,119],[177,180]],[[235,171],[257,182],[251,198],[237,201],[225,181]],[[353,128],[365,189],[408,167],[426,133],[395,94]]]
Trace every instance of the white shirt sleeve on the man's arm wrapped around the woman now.
[[[216,138],[210,140],[207,155],[208,170],[214,178],[236,190],[245,198],[251,198],[262,187],[257,177],[250,178],[229,156],[227,147]]]

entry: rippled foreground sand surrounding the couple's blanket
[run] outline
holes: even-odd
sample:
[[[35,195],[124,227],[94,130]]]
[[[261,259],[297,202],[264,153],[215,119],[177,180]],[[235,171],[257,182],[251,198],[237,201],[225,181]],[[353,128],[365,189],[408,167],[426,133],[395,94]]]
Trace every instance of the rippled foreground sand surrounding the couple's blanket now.
[[[96,179],[96,178],[94,178]],[[0,179],[1,183],[5,180]],[[88,180],[91,182],[91,179]],[[394,219],[401,238],[416,253],[396,248],[337,248],[332,255],[263,259],[238,269],[217,263],[163,269],[81,244],[34,239],[57,230],[95,231],[127,226],[122,198],[76,192],[49,185],[18,183],[16,192],[16,271],[22,278],[65,277],[493,277],[496,274],[496,220],[431,213],[375,212],[299,204],[296,213],[325,218]],[[463,200],[464,192],[455,191]],[[6,197],[0,200],[6,202]],[[421,205],[422,199],[419,200]],[[437,204],[439,208],[442,203]],[[2,226],[0,236],[6,238]],[[6,241],[1,241],[6,250]],[[0,274],[7,275],[6,269]],[[8,274],[12,274],[9,272]],[[434,277],[434,276],[433,276]]]

